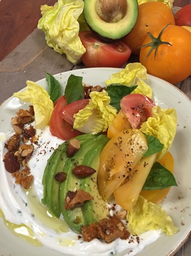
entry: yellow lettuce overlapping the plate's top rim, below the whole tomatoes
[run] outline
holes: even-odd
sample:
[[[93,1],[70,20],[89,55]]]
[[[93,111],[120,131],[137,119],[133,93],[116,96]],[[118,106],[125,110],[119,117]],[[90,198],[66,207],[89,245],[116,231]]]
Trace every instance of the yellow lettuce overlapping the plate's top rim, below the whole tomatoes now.
[[[124,68],[124,70],[118,73],[112,74],[109,80],[106,80],[106,86],[111,83],[120,83],[121,85],[134,86],[137,88],[132,92],[133,94],[144,94],[149,98],[152,98],[152,89],[147,85],[144,80],[147,78],[146,68],[140,64],[140,62],[130,63]]]

